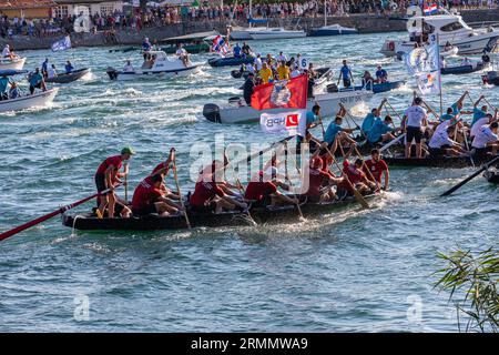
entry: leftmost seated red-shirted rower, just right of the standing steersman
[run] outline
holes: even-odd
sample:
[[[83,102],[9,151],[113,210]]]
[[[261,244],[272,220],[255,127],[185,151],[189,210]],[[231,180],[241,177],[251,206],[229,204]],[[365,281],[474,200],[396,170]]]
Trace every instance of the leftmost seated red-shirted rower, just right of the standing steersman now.
[[[161,174],[154,174],[142,180],[133,192],[133,214],[147,215],[157,213],[160,216],[167,216],[171,213],[179,212],[180,209],[172,206],[170,201],[163,196],[162,184],[163,176]]]

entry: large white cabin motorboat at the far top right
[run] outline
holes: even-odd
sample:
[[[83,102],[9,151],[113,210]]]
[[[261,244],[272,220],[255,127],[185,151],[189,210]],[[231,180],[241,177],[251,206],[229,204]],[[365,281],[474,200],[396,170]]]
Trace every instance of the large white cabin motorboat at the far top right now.
[[[458,14],[436,14],[409,18],[409,23],[421,28],[422,36],[428,36],[430,42],[438,38],[444,49],[447,42],[457,47],[460,55],[490,52],[499,40],[499,31],[493,28],[472,29]],[[415,39],[409,41],[387,40],[380,52],[387,57],[398,52],[408,52],[414,48]]]

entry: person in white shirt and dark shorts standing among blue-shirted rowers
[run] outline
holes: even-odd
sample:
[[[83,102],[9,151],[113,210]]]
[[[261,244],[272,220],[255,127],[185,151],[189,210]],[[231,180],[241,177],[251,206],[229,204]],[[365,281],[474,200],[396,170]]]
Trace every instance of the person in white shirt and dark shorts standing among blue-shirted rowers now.
[[[428,113],[421,108],[421,98],[415,98],[414,103],[406,110],[403,118],[403,125],[406,130],[406,158],[410,158],[410,146],[416,141],[416,158],[422,156],[421,139],[422,126],[427,125]]]

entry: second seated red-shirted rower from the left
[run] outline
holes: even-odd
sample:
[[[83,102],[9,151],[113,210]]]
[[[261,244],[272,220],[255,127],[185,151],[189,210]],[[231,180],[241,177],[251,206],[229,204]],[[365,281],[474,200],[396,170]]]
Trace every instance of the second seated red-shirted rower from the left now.
[[[238,202],[234,197],[230,196],[224,190],[228,189],[225,182],[217,181],[217,174],[223,170],[225,164],[220,161],[214,161],[208,166],[201,171],[197,179],[194,193],[191,195],[190,204],[193,211],[196,212],[212,212],[221,213],[223,211],[232,211],[235,207],[245,210],[247,204]],[[218,184],[222,184],[220,186]]]

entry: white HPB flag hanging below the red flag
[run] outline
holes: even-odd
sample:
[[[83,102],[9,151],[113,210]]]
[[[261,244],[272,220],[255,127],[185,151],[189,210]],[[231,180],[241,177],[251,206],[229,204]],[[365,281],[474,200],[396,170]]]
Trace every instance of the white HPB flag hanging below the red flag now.
[[[306,110],[296,110],[282,113],[262,113],[259,126],[269,134],[287,133],[288,135],[305,136],[307,125]]]

